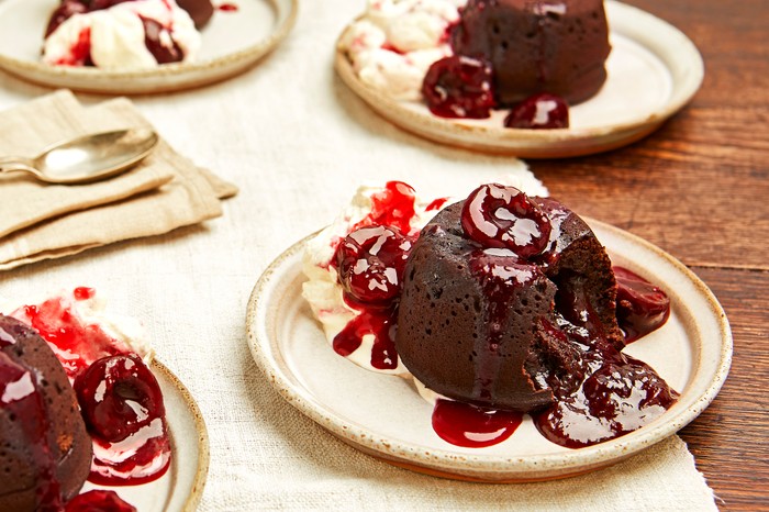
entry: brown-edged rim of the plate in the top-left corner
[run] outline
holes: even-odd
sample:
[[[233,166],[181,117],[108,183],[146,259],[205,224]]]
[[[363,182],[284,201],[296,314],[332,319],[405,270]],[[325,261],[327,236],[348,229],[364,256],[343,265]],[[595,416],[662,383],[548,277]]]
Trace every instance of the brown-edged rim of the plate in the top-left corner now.
[[[272,52],[297,23],[299,0],[259,0],[277,12],[271,32],[260,41],[234,52],[192,63],[172,63],[151,69],[102,70],[87,67],[51,66],[40,60],[26,60],[0,53],[0,70],[33,84],[91,93],[153,94],[193,89],[226,80],[255,66]],[[286,12],[283,12],[286,9]],[[207,73],[208,71],[208,73]],[[197,77],[198,75],[202,75]],[[145,84],[146,80],[175,78],[166,85]],[[197,78],[196,78],[197,77]],[[118,86],[116,80],[131,86]],[[77,82],[75,82],[77,81]]]

